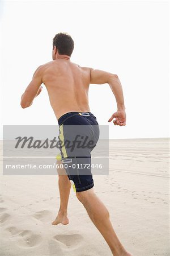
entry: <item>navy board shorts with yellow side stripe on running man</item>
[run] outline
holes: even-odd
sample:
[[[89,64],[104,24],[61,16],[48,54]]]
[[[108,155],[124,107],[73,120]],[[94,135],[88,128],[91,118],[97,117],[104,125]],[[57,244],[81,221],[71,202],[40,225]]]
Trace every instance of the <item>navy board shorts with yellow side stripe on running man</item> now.
[[[91,112],[68,112],[58,119],[61,160],[74,191],[94,187],[91,151],[99,139],[99,123]]]

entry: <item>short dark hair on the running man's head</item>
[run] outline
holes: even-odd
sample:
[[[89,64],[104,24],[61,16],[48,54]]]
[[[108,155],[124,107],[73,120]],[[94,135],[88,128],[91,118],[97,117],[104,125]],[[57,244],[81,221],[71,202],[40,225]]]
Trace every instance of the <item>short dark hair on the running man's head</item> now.
[[[59,54],[71,56],[74,49],[74,41],[67,33],[58,33],[53,38],[53,48],[57,47]]]

